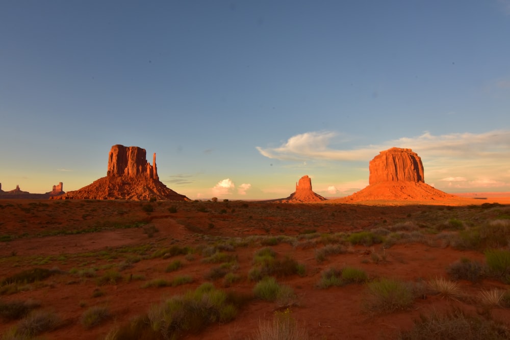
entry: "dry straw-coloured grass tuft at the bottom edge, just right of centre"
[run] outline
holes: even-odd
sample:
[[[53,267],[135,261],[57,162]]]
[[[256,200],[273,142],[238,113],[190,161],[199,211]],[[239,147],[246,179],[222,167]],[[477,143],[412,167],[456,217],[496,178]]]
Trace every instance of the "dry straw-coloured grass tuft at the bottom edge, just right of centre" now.
[[[307,330],[299,326],[292,317],[289,308],[285,311],[275,311],[272,321],[259,321],[259,327],[253,340],[308,340]]]

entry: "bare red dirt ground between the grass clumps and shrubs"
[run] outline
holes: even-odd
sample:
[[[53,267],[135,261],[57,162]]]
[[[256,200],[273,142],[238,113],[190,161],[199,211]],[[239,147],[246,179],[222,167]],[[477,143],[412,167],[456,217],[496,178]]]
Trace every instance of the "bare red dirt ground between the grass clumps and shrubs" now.
[[[47,338],[100,339],[114,326],[142,315],[151,305],[195,289],[206,281],[203,275],[218,266],[202,263],[199,254],[195,259],[186,259],[184,255],[166,259],[150,258],[154,251],[170,245],[206,246],[223,238],[283,235],[296,237],[299,242],[296,246],[281,242],[272,248],[279,257],[289,255],[307,270],[304,277],[293,275],[278,278],[278,282],[290,285],[298,296],[291,310],[300,325],[317,339],[391,338],[399,330],[411,328],[420,314],[427,315],[453,306],[476,314],[479,306],[473,302],[455,302],[439,296],[427,296],[426,299],[416,299],[409,310],[373,315],[363,309],[367,295],[365,286],[351,284],[318,289],[316,283],[321,272],[330,267],[342,268],[349,265],[365,270],[371,278],[392,277],[419,282],[447,277],[446,268],[462,257],[483,262],[483,253],[456,250],[430,234],[429,242],[426,243],[403,243],[389,248],[382,248],[380,244],[370,247],[353,246],[345,254],[330,255],[318,263],[315,249],[321,248],[323,244],[307,243],[303,236],[312,232],[334,234],[368,230],[410,221],[433,227],[451,218],[482,223],[510,214],[508,206],[487,209],[478,207],[482,203],[492,202],[509,204],[510,199],[460,199],[436,202],[436,205],[424,204],[429,202],[395,201],[365,204],[327,201],[317,204],[275,204],[0,200],[0,236],[4,241],[10,240],[0,242],[0,278],[35,267],[58,267],[64,271],[63,274],[29,284],[25,291],[1,295],[0,301],[32,299],[39,301],[42,309],[57,312],[63,323],[58,329],[46,333],[44,336]],[[151,204],[154,211],[145,212],[143,206],[146,204]],[[177,212],[170,213],[170,207],[175,207]],[[143,227],[121,228],[141,221],[147,224]],[[159,231],[149,237],[148,227],[151,226]],[[70,231],[75,234],[64,234]],[[79,231],[88,232],[76,234]],[[220,289],[250,294],[254,283],[246,275],[252,267],[254,252],[261,247],[264,245],[260,241],[236,247],[234,253],[239,263],[236,273],[243,279],[230,287],[223,287],[221,279],[214,281],[214,284]],[[374,253],[379,257],[385,256],[386,260],[374,261]],[[136,256],[141,260],[120,273],[124,277],[143,275],[143,280],[122,280],[117,284],[97,286],[94,278],[80,278],[69,273],[72,268],[96,268],[100,276],[107,270],[118,270],[126,259]],[[184,267],[177,272],[166,273],[166,266],[174,259],[180,259]],[[176,275],[190,275],[194,282],[177,287],[140,287],[151,279],[171,279]],[[483,280],[477,284],[460,281],[460,284],[463,292],[469,296],[476,296],[482,289],[491,287],[509,288],[493,280]],[[97,289],[105,294],[92,297]],[[82,326],[80,318],[88,307],[95,305],[106,305],[113,318],[87,330]],[[204,332],[189,334],[185,338],[247,339],[253,335],[259,321],[270,320],[278,308],[280,306],[275,302],[253,300],[239,311],[234,321],[210,326]],[[496,308],[492,310],[492,316],[496,320],[508,320],[510,311]],[[0,324],[0,333],[16,324],[17,321]]]

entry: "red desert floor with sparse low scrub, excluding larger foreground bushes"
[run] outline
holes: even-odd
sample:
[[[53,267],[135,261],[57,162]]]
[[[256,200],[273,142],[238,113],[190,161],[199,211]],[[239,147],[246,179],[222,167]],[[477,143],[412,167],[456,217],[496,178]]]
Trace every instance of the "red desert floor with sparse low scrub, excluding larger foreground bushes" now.
[[[56,313],[58,324],[41,335],[47,339],[103,339],[151,306],[207,281],[246,301],[234,320],[185,332],[183,338],[253,338],[262,321],[287,309],[315,339],[396,338],[420,315],[454,308],[508,322],[510,309],[504,304],[487,306],[479,299],[483,291],[507,291],[505,280],[490,275],[475,282],[456,280],[461,292],[456,295],[433,291],[429,282],[450,280],[448,269],[461,258],[483,264],[487,247],[466,246],[459,234],[510,220],[509,203],[501,197],[436,204],[0,200],[0,305],[36,301],[36,310]],[[349,242],[349,235],[360,231],[380,238]],[[188,253],[172,256],[172,246]],[[290,258],[304,268],[299,274],[274,274],[295,295],[276,301],[253,297],[254,254],[265,247],[276,259]],[[168,271],[175,260],[182,267]],[[410,306],[381,311],[370,307],[367,282],[318,287],[324,271],[347,266],[365,271],[367,282],[398,279],[418,293]],[[54,275],[35,282],[6,280],[33,268]],[[227,273],[235,277],[232,282]],[[192,282],[149,284],[184,276]],[[84,326],[83,315],[94,306],[105,307],[110,316]],[[0,334],[8,334],[23,319],[0,321]]]

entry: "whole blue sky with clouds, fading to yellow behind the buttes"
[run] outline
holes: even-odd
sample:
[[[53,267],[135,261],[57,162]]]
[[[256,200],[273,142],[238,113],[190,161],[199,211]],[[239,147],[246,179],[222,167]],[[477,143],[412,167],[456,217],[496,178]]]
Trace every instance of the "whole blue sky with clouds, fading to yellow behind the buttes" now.
[[[345,196],[393,146],[510,191],[510,0],[3,0],[2,189],[80,189],[114,144],[191,199]]]

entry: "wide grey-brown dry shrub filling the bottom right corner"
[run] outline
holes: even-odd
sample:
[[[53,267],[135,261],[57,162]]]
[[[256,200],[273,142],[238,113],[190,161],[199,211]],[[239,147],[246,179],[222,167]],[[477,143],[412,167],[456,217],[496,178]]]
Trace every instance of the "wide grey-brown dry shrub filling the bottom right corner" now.
[[[401,332],[398,340],[479,340],[479,339],[508,339],[508,326],[491,319],[467,315],[460,309],[439,314],[433,312],[430,316],[420,315],[414,327]]]

